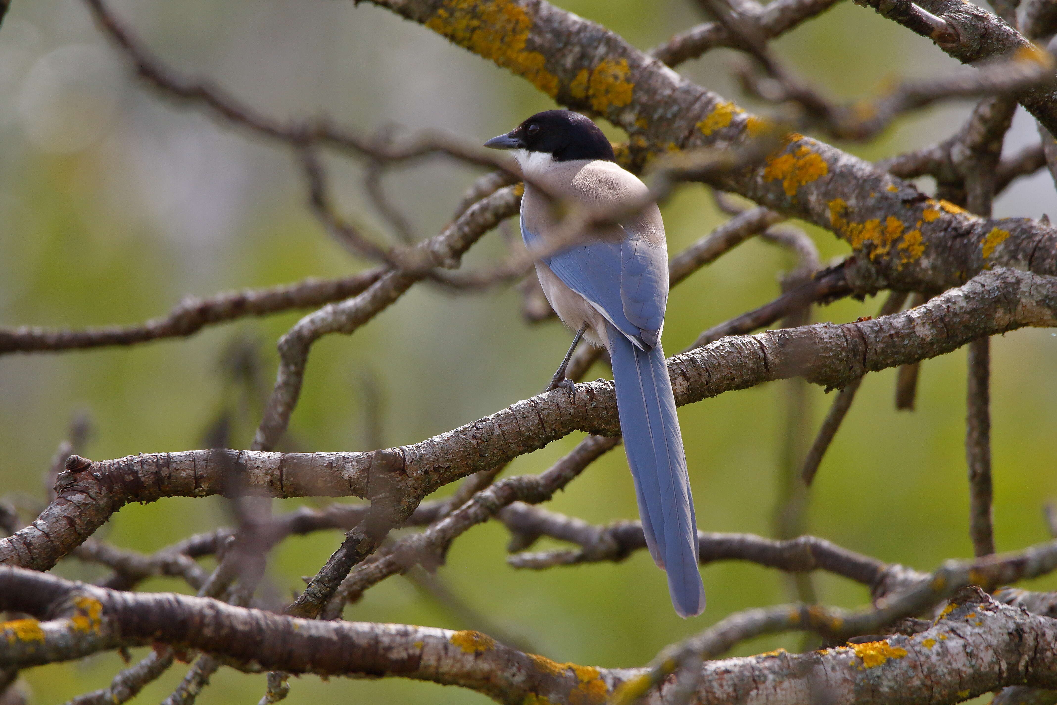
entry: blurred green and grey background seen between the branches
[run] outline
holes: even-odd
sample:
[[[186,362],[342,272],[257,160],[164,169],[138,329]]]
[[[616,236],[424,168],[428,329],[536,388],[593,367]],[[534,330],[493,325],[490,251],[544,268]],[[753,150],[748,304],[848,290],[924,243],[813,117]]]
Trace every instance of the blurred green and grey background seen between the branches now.
[[[693,3],[671,0],[558,2],[602,22],[643,49],[701,20]],[[120,17],[172,66],[209,76],[275,116],[327,113],[361,131],[393,123],[490,137],[553,107],[526,82],[431,32],[367,4],[331,0],[186,0],[115,2]],[[842,3],[776,42],[780,56],[834,96],[855,98],[886,79],[935,75],[957,64],[930,42],[872,11]],[[716,51],[681,71],[741,99],[729,76],[736,54]],[[181,297],[339,276],[365,264],[331,241],[303,207],[291,154],[183,106],[160,99],[127,70],[75,0],[15,0],[0,27],[0,323],[84,327],[162,315]],[[745,105],[752,106],[750,103]],[[841,145],[880,159],[946,136],[968,104],[910,116],[868,145]],[[614,140],[619,130],[605,126]],[[1006,142],[1036,141],[1018,113]],[[361,192],[363,169],[329,157],[344,212],[376,237],[385,225]],[[421,236],[449,218],[477,174],[437,160],[387,177],[393,200]],[[923,188],[928,189],[928,183]],[[999,199],[999,216],[1057,210],[1045,173],[1021,180]],[[664,208],[669,249],[679,252],[722,222],[701,187]],[[516,230],[515,230],[516,231]],[[811,230],[823,258],[847,247]],[[504,253],[497,234],[467,258],[481,265]],[[678,351],[705,328],[773,298],[792,262],[750,241],[696,274],[671,296],[665,347]],[[879,301],[842,301],[815,311],[847,321],[876,313]],[[247,447],[257,401],[231,381],[230,351],[255,350],[258,383],[275,373],[275,341],[298,313],[211,328],[186,340],[133,349],[0,358],[2,493],[32,512],[42,478],[71,418],[88,414],[93,459],[201,447],[224,409],[243,410],[231,437]],[[382,439],[409,444],[536,393],[550,378],[570,334],[556,321],[531,326],[519,296],[502,290],[451,296],[419,285],[351,337],[315,346],[291,442],[311,450],[355,450],[372,443],[365,379],[383,400]],[[1047,538],[1040,507],[1057,498],[1057,334],[1018,331],[993,347],[995,522],[999,550]],[[964,351],[927,361],[917,410],[896,413],[894,371],[868,377],[812,490],[809,531],[849,549],[931,570],[971,555],[962,449]],[[592,370],[591,378],[605,374]],[[680,411],[700,525],[706,531],[768,534],[785,423],[781,385],[724,394]],[[811,426],[832,396],[810,391]],[[539,472],[578,437],[518,459],[507,474]],[[312,500],[305,500],[312,503]],[[277,511],[298,501],[277,502]],[[636,516],[620,451],[595,463],[550,508],[607,522]],[[29,517],[26,517],[29,518]],[[117,545],[150,552],[228,520],[223,501],[170,499],[128,506],[100,531]],[[637,666],[666,644],[736,610],[791,599],[783,576],[754,565],[704,569],[709,606],[691,620],[675,616],[664,575],[645,552],[619,564],[517,572],[504,561],[505,530],[488,524],[458,540],[442,578],[466,602],[558,661]],[[339,542],[336,532],[291,538],[272,556],[270,580],[283,595],[315,573]],[[541,544],[553,545],[553,544]],[[58,573],[94,579],[101,572],[69,561]],[[822,601],[854,607],[863,587],[826,575]],[[1057,579],[1037,581],[1057,587]],[[185,591],[157,579],[144,590]],[[462,628],[406,580],[368,592],[346,617]],[[799,635],[760,638],[736,654]],[[133,656],[138,657],[136,651]],[[36,703],[57,703],[106,686],[122,667],[115,654],[24,673]],[[172,668],[135,700],[157,702],[182,678]],[[204,704],[256,702],[262,676],[222,670]],[[291,703],[483,703],[483,695],[400,680],[293,683]]]

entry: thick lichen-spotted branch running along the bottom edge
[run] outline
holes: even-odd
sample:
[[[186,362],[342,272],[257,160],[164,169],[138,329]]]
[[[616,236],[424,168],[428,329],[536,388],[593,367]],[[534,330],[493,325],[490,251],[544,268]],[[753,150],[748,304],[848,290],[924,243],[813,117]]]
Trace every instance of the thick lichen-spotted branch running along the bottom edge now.
[[[696,702],[799,705],[824,693],[833,705],[940,705],[1008,685],[1057,687],[1057,621],[985,595],[952,605],[934,627],[913,636],[704,664]],[[0,569],[0,607],[39,617],[52,611],[50,621],[2,625],[6,638],[0,653],[18,666],[156,641],[214,652],[247,668],[398,675],[460,685],[512,704],[543,698],[600,702],[624,684],[619,694],[627,695],[649,682],[643,669],[557,664],[478,632],[295,619],[205,598],[115,592],[12,568]],[[812,618],[809,613],[806,620]],[[210,624],[225,629],[206,628]],[[662,702],[672,687],[666,684],[648,702]]]

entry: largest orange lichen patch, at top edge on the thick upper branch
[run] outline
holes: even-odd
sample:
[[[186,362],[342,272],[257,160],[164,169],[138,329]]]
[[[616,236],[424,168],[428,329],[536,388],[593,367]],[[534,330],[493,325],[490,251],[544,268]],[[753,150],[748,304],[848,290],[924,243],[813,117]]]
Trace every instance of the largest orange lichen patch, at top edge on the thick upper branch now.
[[[533,18],[512,0],[445,0],[426,22],[433,32],[479,56],[524,76],[551,97],[558,77],[539,52],[525,49]]]

